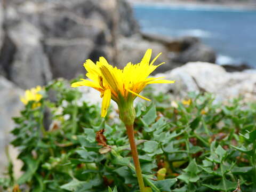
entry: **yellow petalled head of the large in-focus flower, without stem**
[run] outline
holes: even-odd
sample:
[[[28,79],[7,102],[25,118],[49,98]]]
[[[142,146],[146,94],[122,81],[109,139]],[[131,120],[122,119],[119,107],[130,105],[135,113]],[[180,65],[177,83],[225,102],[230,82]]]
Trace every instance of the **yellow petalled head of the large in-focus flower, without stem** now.
[[[82,81],[73,83],[71,86],[90,86],[98,90],[101,93],[101,98],[103,97],[101,107],[102,117],[106,116],[111,99],[117,103],[119,110],[121,109],[120,105],[123,105],[123,103],[131,103],[136,97],[150,101],[139,95],[146,85],[174,83],[174,81],[161,79],[164,77],[148,78],[157,67],[163,64],[161,63],[157,66],[153,65],[161,53],[150,62],[151,52],[152,50],[148,49],[140,63],[133,65],[129,62],[124,69],[118,69],[109,65],[107,60],[103,57],[100,57],[96,64],[88,59],[84,63],[84,67],[87,70],[86,76],[92,81],[81,79]]]

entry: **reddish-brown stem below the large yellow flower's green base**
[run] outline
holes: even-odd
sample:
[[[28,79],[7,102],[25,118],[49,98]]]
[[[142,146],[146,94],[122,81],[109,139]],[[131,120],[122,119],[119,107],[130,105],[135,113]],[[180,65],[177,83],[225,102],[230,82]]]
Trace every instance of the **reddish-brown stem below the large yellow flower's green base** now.
[[[134,138],[134,130],[133,130],[133,124],[132,125],[125,125],[126,126],[126,131],[129,137],[129,142],[131,146],[131,151],[132,151],[132,158],[137,174],[137,179],[139,182],[139,187],[141,192],[145,192],[145,186],[142,178],[142,173],[141,173],[141,168],[140,168],[140,162],[139,162],[139,156],[138,156],[138,151],[137,151],[137,146],[135,143],[135,138]]]

